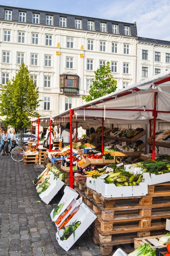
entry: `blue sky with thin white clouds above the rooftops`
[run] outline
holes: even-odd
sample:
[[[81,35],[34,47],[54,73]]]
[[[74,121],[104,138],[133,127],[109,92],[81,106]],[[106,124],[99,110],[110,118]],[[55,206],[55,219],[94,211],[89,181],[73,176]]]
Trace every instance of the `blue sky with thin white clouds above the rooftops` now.
[[[137,23],[140,37],[170,41],[170,0],[0,0],[1,5]]]

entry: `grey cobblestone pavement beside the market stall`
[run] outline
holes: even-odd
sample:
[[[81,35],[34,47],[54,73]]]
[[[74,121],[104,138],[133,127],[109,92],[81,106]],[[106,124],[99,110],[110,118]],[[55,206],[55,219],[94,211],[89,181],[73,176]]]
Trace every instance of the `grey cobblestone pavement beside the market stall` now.
[[[39,196],[32,181],[42,171],[0,155],[0,256],[100,255],[87,234],[68,252],[58,245],[50,218],[53,204],[34,203]]]

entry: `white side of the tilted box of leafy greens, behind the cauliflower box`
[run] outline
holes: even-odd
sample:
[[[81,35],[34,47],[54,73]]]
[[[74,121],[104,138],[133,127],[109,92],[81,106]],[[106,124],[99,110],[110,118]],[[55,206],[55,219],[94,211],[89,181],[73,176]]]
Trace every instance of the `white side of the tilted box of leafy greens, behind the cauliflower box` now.
[[[65,183],[59,178],[57,178],[57,180],[53,180],[46,191],[42,192],[39,197],[44,203],[49,204],[49,202],[58,193],[62,186],[64,186],[64,184]]]

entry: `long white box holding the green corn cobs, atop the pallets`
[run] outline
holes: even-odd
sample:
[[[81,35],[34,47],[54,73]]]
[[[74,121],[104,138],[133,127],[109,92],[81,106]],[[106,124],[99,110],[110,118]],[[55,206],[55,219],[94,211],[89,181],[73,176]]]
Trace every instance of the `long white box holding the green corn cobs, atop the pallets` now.
[[[107,184],[104,180],[97,179],[96,190],[100,189],[100,194],[104,197],[129,197],[142,196],[148,192],[148,183],[141,182],[138,186],[117,187],[114,184]]]

